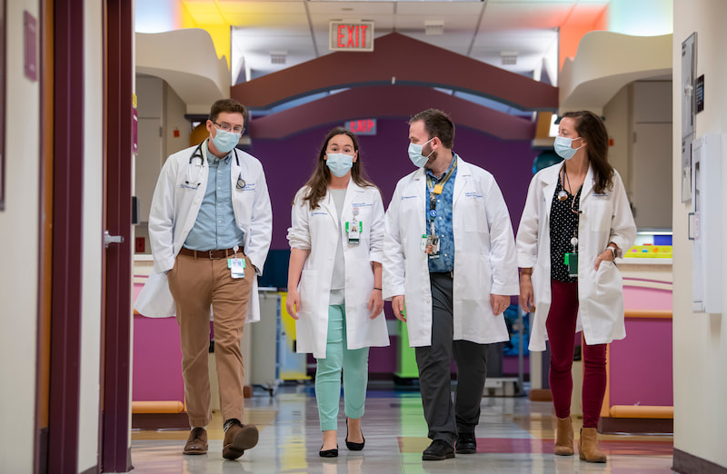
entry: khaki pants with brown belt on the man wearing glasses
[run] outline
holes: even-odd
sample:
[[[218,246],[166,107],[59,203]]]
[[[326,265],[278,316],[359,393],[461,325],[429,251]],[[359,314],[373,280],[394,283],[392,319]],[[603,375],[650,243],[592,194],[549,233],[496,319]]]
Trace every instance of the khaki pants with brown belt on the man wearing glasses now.
[[[238,257],[244,257],[238,253]],[[178,255],[167,273],[182,338],[184,398],[191,427],[212,420],[207,365],[210,306],[214,312],[214,360],[223,420],[243,420],[244,364],[240,350],[254,268],[246,256],[244,278],[233,279],[227,259]]]

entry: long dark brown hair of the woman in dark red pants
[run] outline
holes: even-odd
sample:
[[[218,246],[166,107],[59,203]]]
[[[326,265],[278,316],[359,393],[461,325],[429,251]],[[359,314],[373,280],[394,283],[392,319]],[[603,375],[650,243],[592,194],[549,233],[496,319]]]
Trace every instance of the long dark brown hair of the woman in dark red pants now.
[[[613,167],[608,163],[608,132],[603,120],[586,110],[568,112],[563,118],[570,117],[575,122],[575,131],[586,143],[585,151],[593,166],[593,191],[603,193],[613,189]]]

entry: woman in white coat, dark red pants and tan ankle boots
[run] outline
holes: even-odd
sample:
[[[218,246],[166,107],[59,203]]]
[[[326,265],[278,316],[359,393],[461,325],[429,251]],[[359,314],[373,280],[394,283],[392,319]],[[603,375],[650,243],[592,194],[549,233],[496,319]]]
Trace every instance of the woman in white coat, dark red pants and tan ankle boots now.
[[[621,176],[608,163],[608,133],[591,112],[564,114],[555,139],[564,159],[533,176],[517,232],[520,304],[534,311],[531,351],[550,341],[555,454],[573,455],[573,334],[583,331],[580,458],[606,462],[596,428],[606,389],[606,344],[626,336],[622,277],[613,262],[636,226]]]

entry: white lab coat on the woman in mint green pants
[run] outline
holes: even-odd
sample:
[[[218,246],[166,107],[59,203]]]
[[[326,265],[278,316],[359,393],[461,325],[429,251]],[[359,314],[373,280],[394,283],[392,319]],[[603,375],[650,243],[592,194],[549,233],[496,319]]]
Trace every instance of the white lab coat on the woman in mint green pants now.
[[[295,194],[292,226],[288,229],[291,248],[310,250],[305,260],[298,291],[301,305],[295,321],[296,351],[313,352],[316,359],[325,358],[328,338],[328,306],[334,274],[335,249],[339,235],[344,245],[346,347],[361,349],[388,346],[389,335],[383,311],[369,319],[367,309],[373,291],[372,262],[382,261],[383,202],[375,187],[362,188],[349,180],[341,222],[338,220],[331,193],[326,193],[316,209],[303,201],[308,189]],[[351,222],[354,208],[362,222],[358,244],[348,243],[342,222]]]

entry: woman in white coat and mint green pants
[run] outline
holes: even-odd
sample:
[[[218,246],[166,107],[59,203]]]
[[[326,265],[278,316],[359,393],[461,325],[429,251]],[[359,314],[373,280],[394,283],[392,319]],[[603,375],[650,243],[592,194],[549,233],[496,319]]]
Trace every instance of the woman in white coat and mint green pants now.
[[[328,133],[316,169],[296,193],[286,309],[296,320],[297,351],[317,361],[315,397],[324,444],[338,456],[336,428],[344,372],[346,446],[364,449],[361,417],[368,348],[389,345],[383,318],[383,202],[364,178],[354,133]]]

